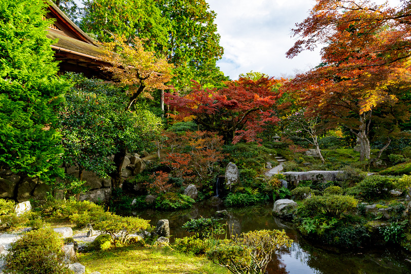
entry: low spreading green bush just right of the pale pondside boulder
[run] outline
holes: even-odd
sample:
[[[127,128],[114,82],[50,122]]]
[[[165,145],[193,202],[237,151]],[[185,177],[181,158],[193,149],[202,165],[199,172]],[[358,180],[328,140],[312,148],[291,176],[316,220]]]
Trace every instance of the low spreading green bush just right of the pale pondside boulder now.
[[[297,210],[297,214],[303,217],[326,215],[339,218],[341,213],[357,207],[358,200],[345,195],[312,195],[305,199],[303,205]]]

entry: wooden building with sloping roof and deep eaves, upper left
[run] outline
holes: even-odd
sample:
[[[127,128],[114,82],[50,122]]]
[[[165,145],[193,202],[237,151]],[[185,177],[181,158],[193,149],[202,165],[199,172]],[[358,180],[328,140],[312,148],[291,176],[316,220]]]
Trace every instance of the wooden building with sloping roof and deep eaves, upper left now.
[[[55,52],[55,60],[60,61],[59,75],[71,71],[82,73],[88,78],[110,80],[110,76],[99,68],[101,65],[109,65],[97,58],[103,54],[101,47],[56,5],[49,0],[47,2],[47,18],[55,20],[48,28],[47,37],[58,40],[51,47]]]

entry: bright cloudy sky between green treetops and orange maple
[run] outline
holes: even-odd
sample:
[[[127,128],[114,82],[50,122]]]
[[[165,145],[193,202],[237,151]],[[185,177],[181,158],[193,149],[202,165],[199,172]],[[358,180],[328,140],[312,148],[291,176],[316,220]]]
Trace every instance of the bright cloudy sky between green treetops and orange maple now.
[[[269,76],[292,76],[320,63],[320,49],[293,59],[285,53],[293,46],[291,28],[302,22],[314,0],[208,0],[224,56],[218,62],[231,79],[251,70]]]

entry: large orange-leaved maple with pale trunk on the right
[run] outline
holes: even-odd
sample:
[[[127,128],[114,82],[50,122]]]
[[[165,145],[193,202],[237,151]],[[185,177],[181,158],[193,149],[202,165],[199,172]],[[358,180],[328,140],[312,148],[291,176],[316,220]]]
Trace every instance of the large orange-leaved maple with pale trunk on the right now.
[[[394,20],[396,16],[402,19]],[[356,135],[361,160],[370,158],[369,133],[375,110],[386,108],[387,118],[394,124],[381,131],[386,141],[383,149],[398,132],[396,125],[409,118],[407,109],[397,105],[411,83],[405,62],[411,52],[410,30],[404,17],[385,5],[321,0],[294,30],[302,39],[287,52],[289,57],[304,47],[312,49],[315,42],[328,46],[322,50],[322,64],[297,75],[288,90],[300,91],[308,113],[321,114]],[[387,124],[381,123],[381,118],[378,126]]]

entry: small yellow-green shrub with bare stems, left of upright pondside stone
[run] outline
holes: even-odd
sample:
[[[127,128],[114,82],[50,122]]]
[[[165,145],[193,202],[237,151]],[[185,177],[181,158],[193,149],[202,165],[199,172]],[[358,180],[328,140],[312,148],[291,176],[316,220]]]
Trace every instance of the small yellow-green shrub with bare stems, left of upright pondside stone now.
[[[109,214],[109,212],[106,214],[108,215],[107,220],[96,223],[94,228],[109,234],[114,243],[119,240],[121,244],[125,244],[130,238],[130,234],[150,227],[148,224],[150,221],[139,217],[122,217]],[[116,234],[119,234],[119,238],[116,237]]]

